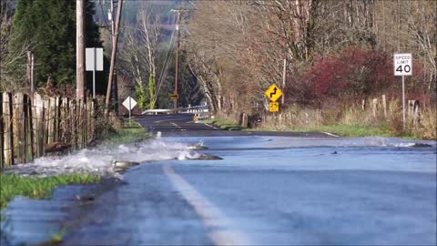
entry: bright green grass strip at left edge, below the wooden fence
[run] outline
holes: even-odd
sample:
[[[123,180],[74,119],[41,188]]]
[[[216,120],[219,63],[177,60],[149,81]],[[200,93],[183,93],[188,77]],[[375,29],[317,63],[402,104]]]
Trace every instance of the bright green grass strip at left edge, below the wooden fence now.
[[[100,182],[101,178],[87,174],[60,175],[55,177],[25,177],[0,174],[0,209],[4,209],[15,196],[31,199],[48,199],[59,185]]]

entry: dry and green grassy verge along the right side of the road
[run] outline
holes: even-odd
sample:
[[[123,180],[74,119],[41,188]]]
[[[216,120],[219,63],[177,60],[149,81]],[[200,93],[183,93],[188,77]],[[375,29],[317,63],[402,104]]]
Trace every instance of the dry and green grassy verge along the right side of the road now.
[[[401,112],[389,108],[386,117],[381,112],[376,117],[371,111],[362,112],[360,109],[349,108],[342,111],[311,110],[290,108],[281,114],[269,114],[258,128],[243,130],[261,131],[318,131],[330,132],[341,137],[400,137],[400,138],[437,138],[437,110],[428,108],[422,110],[420,123],[412,126],[408,120],[406,131],[402,131]],[[408,119],[408,118],[407,118]],[[204,120],[222,129],[241,129],[235,120],[215,118]]]

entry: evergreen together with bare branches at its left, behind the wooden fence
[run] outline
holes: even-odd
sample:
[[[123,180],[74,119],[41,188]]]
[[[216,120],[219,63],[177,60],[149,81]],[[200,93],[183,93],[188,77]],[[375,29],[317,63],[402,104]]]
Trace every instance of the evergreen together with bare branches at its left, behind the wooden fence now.
[[[86,46],[102,46],[93,20],[96,4],[86,1]],[[26,52],[35,54],[36,87],[76,85],[76,2],[69,0],[5,0],[2,8],[1,89],[29,87]],[[88,75],[91,76],[91,75]],[[99,76],[98,84],[106,84]],[[92,82],[91,77],[87,81]]]

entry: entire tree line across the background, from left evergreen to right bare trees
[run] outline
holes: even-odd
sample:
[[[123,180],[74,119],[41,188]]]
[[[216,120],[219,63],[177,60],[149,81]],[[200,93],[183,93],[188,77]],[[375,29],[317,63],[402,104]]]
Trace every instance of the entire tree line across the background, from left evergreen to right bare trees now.
[[[122,15],[118,93],[121,99],[135,94],[141,108],[172,106],[176,17],[170,9],[180,6],[185,8],[178,80],[182,106],[205,98],[216,112],[253,113],[267,107],[263,92],[271,83],[284,91],[285,106],[320,107],[381,93],[394,97],[400,83],[392,75],[392,55],[402,52],[414,58],[407,94],[436,96],[435,1],[162,3],[127,1]],[[110,54],[110,31],[102,28],[107,5],[86,1],[86,46],[105,46]],[[37,87],[74,89],[75,1],[5,0],[0,7],[0,89],[28,87],[28,50],[36,56]],[[97,93],[103,94],[106,84],[107,73],[97,74]]]

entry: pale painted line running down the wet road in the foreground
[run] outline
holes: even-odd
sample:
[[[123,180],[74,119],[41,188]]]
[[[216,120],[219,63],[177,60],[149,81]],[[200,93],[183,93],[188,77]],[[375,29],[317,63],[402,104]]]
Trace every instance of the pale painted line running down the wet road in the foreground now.
[[[232,221],[206,197],[191,187],[188,181],[179,176],[169,166],[163,167],[164,173],[188,204],[196,210],[208,229],[208,237],[215,245],[251,245],[249,238],[235,228]]]

